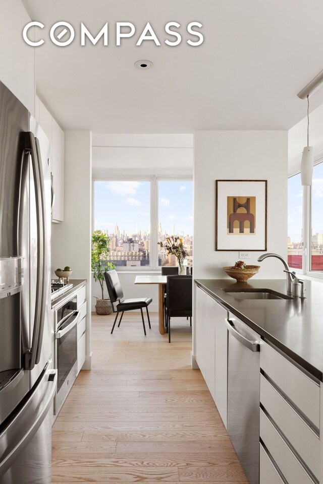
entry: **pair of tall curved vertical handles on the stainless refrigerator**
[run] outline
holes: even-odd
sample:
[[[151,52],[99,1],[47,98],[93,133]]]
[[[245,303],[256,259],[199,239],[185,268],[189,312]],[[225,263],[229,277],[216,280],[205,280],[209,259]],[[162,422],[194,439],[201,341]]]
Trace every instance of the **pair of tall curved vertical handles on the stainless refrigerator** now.
[[[41,185],[39,162],[37,158],[36,143],[33,133],[25,133],[25,152],[31,155],[32,172],[35,185],[36,222],[37,222],[37,279],[35,316],[31,348],[25,353],[25,369],[32,370],[36,364],[37,349],[39,345],[41,317],[43,316],[43,289],[44,289],[44,225],[43,225],[43,180]]]

